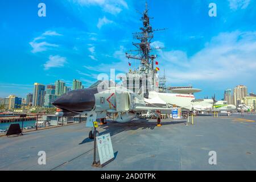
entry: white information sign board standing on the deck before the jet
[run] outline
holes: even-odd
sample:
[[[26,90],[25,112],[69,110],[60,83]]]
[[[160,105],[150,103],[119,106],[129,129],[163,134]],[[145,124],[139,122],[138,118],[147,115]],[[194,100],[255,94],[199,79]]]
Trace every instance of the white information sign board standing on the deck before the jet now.
[[[96,137],[96,140],[98,147],[98,155],[100,157],[100,163],[102,165],[114,158],[114,151],[112,147],[110,134],[98,136]]]

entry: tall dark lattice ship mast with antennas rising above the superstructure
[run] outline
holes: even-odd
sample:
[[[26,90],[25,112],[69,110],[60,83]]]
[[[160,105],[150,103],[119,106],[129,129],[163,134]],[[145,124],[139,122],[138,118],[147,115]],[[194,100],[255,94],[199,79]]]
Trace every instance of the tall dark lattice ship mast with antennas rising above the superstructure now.
[[[158,48],[151,48],[151,40],[154,38],[154,32],[160,31],[160,30],[166,30],[164,29],[152,29],[150,25],[150,19],[151,18],[148,15],[148,5],[146,2],[145,10],[142,14],[142,27],[139,28],[140,32],[133,33],[134,39],[137,40],[137,42],[133,42],[133,46],[136,48],[135,50],[131,50],[126,52],[127,59],[134,59],[137,61],[140,61],[139,68],[136,68],[134,71],[131,71],[129,73],[126,73],[127,75],[127,89],[133,89],[133,92],[136,90],[135,82],[139,83],[138,88],[142,90],[142,79],[146,80],[146,90],[144,90],[144,97],[148,97],[148,91],[150,90],[156,90],[159,88],[158,85],[158,76],[155,74],[158,71],[154,68],[154,60],[158,57],[157,55],[153,55],[151,53],[152,50],[155,49],[161,49]],[[142,78],[144,77],[144,78]],[[151,80],[150,80],[151,79]],[[141,91],[140,91],[141,92]]]

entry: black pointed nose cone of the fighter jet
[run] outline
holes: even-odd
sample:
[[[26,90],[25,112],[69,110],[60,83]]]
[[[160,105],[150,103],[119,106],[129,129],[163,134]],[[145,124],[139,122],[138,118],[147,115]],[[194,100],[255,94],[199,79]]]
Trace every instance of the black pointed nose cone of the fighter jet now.
[[[95,105],[94,94],[96,93],[97,89],[72,90],[57,98],[52,105],[74,112],[89,111]]]

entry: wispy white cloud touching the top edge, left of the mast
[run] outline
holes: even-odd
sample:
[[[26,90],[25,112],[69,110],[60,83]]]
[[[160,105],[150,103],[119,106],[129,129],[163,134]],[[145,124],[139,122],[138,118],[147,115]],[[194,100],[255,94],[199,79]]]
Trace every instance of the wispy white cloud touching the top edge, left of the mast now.
[[[128,9],[128,5],[123,0],[73,0],[81,6],[100,6],[106,13],[119,14],[123,9]]]

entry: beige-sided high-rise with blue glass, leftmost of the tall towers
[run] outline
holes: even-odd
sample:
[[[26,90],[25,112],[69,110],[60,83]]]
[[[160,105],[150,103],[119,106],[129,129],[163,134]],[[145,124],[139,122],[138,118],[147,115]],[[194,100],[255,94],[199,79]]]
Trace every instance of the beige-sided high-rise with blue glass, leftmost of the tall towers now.
[[[46,86],[39,83],[35,83],[32,106],[34,107],[43,106],[45,93],[46,93]]]

